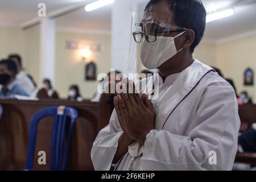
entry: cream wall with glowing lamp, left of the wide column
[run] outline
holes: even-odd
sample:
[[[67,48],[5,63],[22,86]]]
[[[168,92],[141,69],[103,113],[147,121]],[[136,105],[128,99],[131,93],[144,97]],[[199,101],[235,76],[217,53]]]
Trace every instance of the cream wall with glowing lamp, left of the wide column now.
[[[82,96],[91,98],[97,92],[98,81],[84,80],[85,62],[82,60],[79,50],[65,49],[66,40],[91,40],[103,43],[104,50],[92,52],[92,60],[97,64],[97,73],[107,73],[110,71],[111,64],[111,36],[66,31],[56,32],[54,88],[62,98],[67,98],[69,85],[78,84]],[[39,50],[39,27],[30,28],[26,31],[21,28],[0,27],[0,59],[7,57],[9,53],[19,53],[23,57],[26,72],[30,73],[40,86],[42,80],[39,80]]]

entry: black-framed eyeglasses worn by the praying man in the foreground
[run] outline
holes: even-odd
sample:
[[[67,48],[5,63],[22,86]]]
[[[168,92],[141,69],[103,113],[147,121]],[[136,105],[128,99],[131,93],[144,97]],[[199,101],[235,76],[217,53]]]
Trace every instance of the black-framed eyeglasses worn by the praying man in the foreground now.
[[[173,31],[170,31],[170,32],[181,32],[181,31],[184,31],[184,30],[173,30]],[[170,32],[168,32],[168,34]],[[142,42],[143,36],[145,36],[147,42],[156,42],[156,37],[159,34],[163,35],[162,33],[159,33],[159,32],[149,32],[148,34],[146,34],[145,32],[137,31],[137,32],[133,32],[133,38],[134,38],[135,42],[137,42],[137,43]]]

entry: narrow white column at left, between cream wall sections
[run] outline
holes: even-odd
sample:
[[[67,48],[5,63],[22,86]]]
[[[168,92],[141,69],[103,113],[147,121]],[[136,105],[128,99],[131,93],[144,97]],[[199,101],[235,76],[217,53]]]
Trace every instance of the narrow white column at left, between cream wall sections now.
[[[40,23],[40,68],[39,78],[54,82],[55,71],[55,20],[44,19]]]

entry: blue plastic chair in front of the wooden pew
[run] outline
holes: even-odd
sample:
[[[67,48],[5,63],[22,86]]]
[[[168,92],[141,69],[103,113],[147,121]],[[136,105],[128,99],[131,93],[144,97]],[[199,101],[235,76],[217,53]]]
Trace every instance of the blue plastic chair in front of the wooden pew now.
[[[53,129],[52,129],[50,170],[63,171],[67,169],[69,147],[71,144],[71,134],[72,134],[72,129],[76,122],[78,113],[77,113],[77,110],[72,107],[52,106],[52,107],[47,107],[46,109],[42,109],[38,111],[34,115],[34,117],[31,119],[25,170],[33,170],[38,123],[40,119],[44,117],[49,117],[49,116],[55,117],[53,122]],[[67,138],[65,151],[63,152],[67,117],[71,118],[71,122],[68,128],[68,138]],[[63,153],[64,153],[64,156],[63,156]]]

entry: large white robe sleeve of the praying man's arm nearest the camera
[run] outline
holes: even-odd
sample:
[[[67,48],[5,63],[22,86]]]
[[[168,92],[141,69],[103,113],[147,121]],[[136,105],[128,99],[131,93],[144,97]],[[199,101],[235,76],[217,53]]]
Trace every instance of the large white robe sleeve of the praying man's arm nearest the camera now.
[[[141,169],[231,170],[239,128],[233,88],[205,90],[187,136],[166,130],[150,131],[144,143]]]

